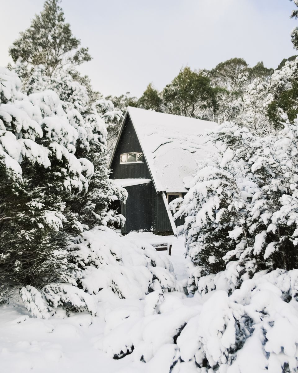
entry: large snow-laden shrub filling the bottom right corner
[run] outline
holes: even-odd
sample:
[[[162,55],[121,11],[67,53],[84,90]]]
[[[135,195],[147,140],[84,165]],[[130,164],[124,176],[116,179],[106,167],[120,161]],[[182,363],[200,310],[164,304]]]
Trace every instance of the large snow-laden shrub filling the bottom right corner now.
[[[213,292],[178,336],[171,372],[298,372],[297,280],[275,270]]]

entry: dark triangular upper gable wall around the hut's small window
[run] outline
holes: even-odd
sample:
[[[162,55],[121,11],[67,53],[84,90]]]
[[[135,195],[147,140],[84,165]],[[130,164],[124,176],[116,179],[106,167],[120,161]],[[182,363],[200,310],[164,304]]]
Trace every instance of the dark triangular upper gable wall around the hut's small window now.
[[[145,159],[143,163],[120,164],[120,154],[142,151],[136,131],[134,131],[129,115],[127,115],[123,131],[115,150],[111,164],[111,179],[151,179]]]

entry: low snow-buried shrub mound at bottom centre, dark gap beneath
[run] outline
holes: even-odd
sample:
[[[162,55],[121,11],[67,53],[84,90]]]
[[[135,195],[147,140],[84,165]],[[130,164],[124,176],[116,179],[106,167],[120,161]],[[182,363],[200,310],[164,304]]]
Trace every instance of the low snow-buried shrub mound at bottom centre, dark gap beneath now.
[[[154,307],[156,295],[158,294],[146,295],[143,301],[145,307],[152,301]],[[176,295],[173,297],[175,298]],[[157,298],[157,301],[162,302],[162,299],[162,297]],[[165,312],[161,311],[160,307],[158,304],[156,308],[158,313],[155,311],[148,314],[145,311],[146,308],[144,308],[145,312],[142,310],[142,304],[138,311],[120,306],[111,314],[111,317],[106,316],[107,326],[104,336],[95,344],[95,347],[114,359],[123,358],[132,353],[134,361],[148,363],[164,345],[176,344],[181,330],[188,320],[197,314],[195,308],[182,304],[178,308]]]

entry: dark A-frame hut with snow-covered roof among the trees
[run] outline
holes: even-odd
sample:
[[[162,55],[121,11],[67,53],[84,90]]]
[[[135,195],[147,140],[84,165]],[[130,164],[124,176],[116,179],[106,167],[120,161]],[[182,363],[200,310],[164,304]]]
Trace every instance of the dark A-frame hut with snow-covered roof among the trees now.
[[[121,228],[129,232],[176,234],[169,203],[183,197],[197,160],[214,151],[202,136],[216,123],[128,107],[111,157],[110,178],[127,189]]]

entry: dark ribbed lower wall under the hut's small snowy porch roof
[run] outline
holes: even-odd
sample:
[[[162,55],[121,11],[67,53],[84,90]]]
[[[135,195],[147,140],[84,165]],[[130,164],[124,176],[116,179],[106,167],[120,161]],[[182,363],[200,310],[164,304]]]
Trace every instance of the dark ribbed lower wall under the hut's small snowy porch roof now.
[[[126,222],[121,233],[152,231],[152,182],[131,185],[125,188],[128,192],[126,204],[122,205],[121,213]]]

